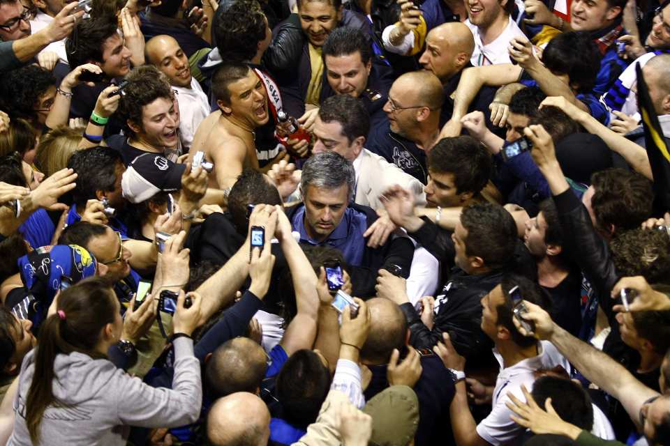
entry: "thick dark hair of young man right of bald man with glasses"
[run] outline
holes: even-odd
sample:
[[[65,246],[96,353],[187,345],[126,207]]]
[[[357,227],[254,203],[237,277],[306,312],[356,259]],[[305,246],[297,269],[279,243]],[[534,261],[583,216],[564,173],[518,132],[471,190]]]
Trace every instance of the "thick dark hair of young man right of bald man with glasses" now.
[[[442,138],[428,153],[428,169],[452,174],[456,193],[478,194],[491,176],[491,157],[479,141],[469,136]]]

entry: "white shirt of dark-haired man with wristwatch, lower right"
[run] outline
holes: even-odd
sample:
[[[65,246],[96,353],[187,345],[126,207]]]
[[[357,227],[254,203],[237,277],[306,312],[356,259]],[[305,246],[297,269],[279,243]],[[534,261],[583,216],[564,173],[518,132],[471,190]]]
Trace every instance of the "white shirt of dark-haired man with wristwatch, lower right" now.
[[[568,373],[570,371],[569,362],[558,353],[551,342],[539,341],[537,350],[539,353],[537,356],[529,357],[512,367],[502,369],[502,356],[496,349],[493,349],[493,355],[496,356],[501,367],[496,387],[493,389],[493,410],[488,417],[477,424],[477,434],[493,446],[510,443],[526,430],[510,418],[510,415],[514,413],[505,405],[505,402],[509,400],[507,392],[512,393],[521,401],[526,401],[526,397],[521,392],[521,385],[526,385],[526,389],[530,392],[535,382],[535,371],[553,369],[559,365]]]

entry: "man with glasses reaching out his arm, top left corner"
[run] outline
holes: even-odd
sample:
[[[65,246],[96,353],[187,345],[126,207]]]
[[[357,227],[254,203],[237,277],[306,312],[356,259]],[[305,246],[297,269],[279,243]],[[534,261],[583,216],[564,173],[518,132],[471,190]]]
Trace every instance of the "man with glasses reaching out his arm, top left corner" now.
[[[18,0],[0,0],[0,72],[31,61],[50,43],[69,36],[84,15],[83,10],[76,9],[77,2],[68,4],[50,24],[33,34],[31,11]]]

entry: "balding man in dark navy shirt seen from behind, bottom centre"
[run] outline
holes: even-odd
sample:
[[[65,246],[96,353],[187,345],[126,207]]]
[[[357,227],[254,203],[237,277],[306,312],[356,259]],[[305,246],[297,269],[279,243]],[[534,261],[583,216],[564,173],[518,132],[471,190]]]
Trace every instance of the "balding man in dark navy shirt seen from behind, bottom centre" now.
[[[365,390],[365,400],[370,401],[389,383],[387,364],[394,349],[401,356],[418,355],[409,349],[410,332],[403,310],[387,298],[373,298],[366,302],[370,312],[370,332],[361,348],[361,362],[372,372],[372,380]],[[418,316],[417,316],[418,317]],[[445,423],[449,423],[449,406],[454,398],[454,378],[436,355],[420,357],[422,373],[414,386],[419,399],[419,426],[416,445],[442,445],[445,442]]]

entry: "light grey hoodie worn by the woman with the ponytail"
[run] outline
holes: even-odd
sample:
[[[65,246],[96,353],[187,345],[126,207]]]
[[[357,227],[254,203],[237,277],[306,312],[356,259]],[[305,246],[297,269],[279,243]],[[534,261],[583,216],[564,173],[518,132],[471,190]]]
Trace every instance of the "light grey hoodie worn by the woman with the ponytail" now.
[[[25,357],[14,400],[14,431],[7,445],[31,445],[25,401],[33,380],[35,351]],[[174,341],[172,389],[154,388],[132,378],[108,360],[82,353],[58,355],[54,397],[40,424],[43,445],[125,445],[128,426],[174,427],[198,420],[202,403],[200,363],[193,341]]]

